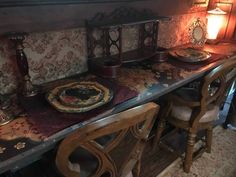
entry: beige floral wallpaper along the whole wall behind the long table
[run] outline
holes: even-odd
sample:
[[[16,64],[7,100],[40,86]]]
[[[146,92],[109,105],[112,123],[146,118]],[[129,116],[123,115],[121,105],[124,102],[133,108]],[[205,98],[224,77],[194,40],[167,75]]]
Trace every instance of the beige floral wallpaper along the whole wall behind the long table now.
[[[205,21],[205,12],[172,16],[161,22],[158,45],[170,48],[189,42],[188,26],[196,18]],[[130,26],[123,31],[123,51],[137,48],[138,30]],[[40,84],[87,71],[86,30],[84,28],[32,33],[25,40],[30,75]],[[15,51],[6,39],[0,40],[0,93],[17,89],[20,76]]]

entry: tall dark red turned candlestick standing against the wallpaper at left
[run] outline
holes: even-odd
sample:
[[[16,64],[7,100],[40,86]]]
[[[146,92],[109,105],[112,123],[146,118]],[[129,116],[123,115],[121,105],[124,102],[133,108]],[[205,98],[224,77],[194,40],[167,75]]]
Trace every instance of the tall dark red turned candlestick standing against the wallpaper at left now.
[[[9,39],[15,44],[17,65],[23,78],[22,94],[25,97],[31,97],[37,95],[39,89],[32,84],[29,75],[28,61],[23,46],[26,35],[27,33],[12,33]]]

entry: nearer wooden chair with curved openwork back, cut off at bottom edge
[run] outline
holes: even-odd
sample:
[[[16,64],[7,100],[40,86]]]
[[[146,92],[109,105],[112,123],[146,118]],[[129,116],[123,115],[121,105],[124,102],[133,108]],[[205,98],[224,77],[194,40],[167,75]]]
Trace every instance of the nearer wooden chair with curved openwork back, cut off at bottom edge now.
[[[139,175],[140,159],[159,106],[147,103],[88,124],[59,146],[56,166],[66,177]]]

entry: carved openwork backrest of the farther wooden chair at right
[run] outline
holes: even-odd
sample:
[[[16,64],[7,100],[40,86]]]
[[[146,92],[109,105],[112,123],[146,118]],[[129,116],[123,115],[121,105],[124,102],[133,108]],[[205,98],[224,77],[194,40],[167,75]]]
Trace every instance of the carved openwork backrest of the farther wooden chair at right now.
[[[200,93],[200,108],[193,112],[192,125],[198,124],[210,105],[218,106],[222,104],[230,85],[236,78],[236,59],[230,59],[220,66],[214,68],[204,78]],[[197,111],[196,111],[197,110]],[[197,116],[194,115],[197,114]]]

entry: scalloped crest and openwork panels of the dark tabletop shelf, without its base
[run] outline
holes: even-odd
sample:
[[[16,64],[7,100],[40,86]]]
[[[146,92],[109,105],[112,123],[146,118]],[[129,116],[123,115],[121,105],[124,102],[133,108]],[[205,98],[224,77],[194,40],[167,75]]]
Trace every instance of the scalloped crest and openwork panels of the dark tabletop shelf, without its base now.
[[[158,21],[150,10],[136,10],[120,7],[110,14],[98,13],[87,20],[88,57],[96,58],[122,55],[122,28],[131,24],[139,25],[139,49],[145,47],[155,51],[157,46]],[[98,32],[99,31],[99,32]],[[148,42],[145,42],[148,41]],[[99,46],[100,50],[97,52]]]

